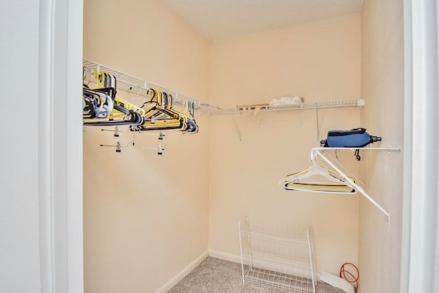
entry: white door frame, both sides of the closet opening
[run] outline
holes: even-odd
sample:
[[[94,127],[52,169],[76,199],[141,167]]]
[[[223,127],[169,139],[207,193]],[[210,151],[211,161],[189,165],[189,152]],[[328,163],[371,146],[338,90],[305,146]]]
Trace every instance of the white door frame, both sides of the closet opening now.
[[[83,292],[81,0],[40,0],[38,159],[41,292]],[[435,0],[404,0],[401,292],[434,292],[438,215]],[[427,182],[427,180],[430,180]],[[433,180],[433,181],[431,181]],[[434,182],[436,184],[432,184]]]

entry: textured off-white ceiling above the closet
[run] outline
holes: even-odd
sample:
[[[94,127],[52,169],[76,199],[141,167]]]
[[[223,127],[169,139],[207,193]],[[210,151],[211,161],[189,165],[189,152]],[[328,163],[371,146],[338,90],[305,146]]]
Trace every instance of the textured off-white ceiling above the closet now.
[[[209,40],[361,12],[363,0],[163,0]]]

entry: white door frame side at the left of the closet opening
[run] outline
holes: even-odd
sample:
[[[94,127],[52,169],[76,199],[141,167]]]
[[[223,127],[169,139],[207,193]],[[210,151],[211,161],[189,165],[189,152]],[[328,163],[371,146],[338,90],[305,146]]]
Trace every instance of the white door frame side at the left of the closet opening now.
[[[84,292],[81,0],[40,0],[40,292]]]

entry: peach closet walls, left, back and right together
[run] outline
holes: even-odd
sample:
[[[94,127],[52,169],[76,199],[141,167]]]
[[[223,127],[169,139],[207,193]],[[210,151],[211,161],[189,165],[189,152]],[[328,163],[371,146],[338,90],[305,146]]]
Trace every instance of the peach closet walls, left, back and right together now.
[[[401,148],[401,3],[384,13],[379,1],[353,1],[354,12],[209,38],[183,14],[207,4],[178,2],[84,1],[84,83],[115,76],[117,97],[147,111],[150,101],[167,108],[156,89],[180,113],[193,108],[198,124],[190,133],[159,131],[145,114],[143,130],[84,119],[86,292],[167,292],[208,256],[241,263],[244,217],[263,231],[311,227],[316,279],[354,263],[361,292],[398,288],[401,152],[363,150],[360,161],[355,150],[325,152],[390,220],[360,192],[287,190],[279,180],[313,162],[330,167],[318,154],[311,162],[329,130],[362,127],[382,137],[370,148]],[[298,104],[270,104],[286,97]]]

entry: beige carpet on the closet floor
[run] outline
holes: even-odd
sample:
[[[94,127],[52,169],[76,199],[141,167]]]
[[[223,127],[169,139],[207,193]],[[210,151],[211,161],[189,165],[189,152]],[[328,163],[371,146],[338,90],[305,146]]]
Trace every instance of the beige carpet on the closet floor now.
[[[207,257],[168,293],[292,293],[295,291],[274,287],[241,277],[241,263]],[[318,282],[316,293],[344,293],[339,288]]]

